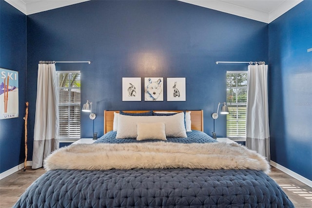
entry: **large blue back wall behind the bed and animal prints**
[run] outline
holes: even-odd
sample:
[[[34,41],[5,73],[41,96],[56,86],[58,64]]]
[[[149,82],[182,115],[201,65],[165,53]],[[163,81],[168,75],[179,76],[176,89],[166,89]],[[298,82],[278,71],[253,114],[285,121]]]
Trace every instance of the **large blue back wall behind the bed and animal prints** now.
[[[57,70],[81,71],[81,103],[93,102],[98,135],[104,109],[203,109],[211,134],[211,114],[226,99],[226,70],[247,68],[215,61],[268,61],[268,24],[179,1],[88,1],[29,15],[27,24],[30,110],[39,60],[91,60]],[[185,77],[187,101],[167,102],[165,90],[164,102],[144,102],[143,94],[142,102],[122,102],[122,77],[141,77],[142,86],[144,77]],[[81,132],[92,136],[88,115]],[[216,133],[226,136],[225,117],[216,120]]]

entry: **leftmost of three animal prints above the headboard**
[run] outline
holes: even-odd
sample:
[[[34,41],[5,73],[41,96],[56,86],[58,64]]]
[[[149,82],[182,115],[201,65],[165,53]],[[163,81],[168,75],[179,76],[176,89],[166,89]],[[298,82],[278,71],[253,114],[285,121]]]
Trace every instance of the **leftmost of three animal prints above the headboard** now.
[[[122,101],[141,101],[141,78],[122,78]]]

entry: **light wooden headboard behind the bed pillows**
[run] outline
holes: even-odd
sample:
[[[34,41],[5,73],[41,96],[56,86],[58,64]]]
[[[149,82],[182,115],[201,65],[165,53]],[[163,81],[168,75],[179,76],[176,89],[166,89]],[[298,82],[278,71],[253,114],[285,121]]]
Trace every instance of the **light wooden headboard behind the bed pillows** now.
[[[123,110],[127,113],[143,113],[149,110]],[[157,110],[155,110],[157,111]],[[182,112],[183,110],[158,110],[170,112]],[[204,131],[204,112],[203,110],[187,110],[191,111],[191,128],[194,130]],[[114,112],[119,113],[119,110],[104,110],[104,134],[113,130]]]

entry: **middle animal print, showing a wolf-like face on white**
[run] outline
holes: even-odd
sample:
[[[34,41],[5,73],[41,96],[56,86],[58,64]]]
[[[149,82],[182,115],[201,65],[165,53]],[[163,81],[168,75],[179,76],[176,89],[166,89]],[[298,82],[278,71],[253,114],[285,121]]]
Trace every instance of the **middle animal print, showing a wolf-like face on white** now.
[[[164,101],[163,78],[146,77],[144,82],[145,101]]]

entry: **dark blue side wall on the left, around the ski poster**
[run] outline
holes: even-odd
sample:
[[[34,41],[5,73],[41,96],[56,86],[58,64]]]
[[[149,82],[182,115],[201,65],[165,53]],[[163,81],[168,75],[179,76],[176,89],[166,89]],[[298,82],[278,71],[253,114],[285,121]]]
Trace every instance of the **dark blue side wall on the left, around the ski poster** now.
[[[19,118],[0,120],[0,171],[4,172],[25,158],[26,102],[26,15],[4,0],[0,0],[0,31],[0,67],[19,72]]]

